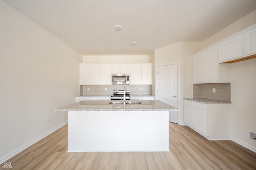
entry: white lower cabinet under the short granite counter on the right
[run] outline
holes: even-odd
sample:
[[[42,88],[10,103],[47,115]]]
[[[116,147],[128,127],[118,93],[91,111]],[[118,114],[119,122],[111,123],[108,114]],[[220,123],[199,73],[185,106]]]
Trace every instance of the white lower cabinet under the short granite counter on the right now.
[[[230,140],[230,104],[184,100],[184,122],[209,140]]]

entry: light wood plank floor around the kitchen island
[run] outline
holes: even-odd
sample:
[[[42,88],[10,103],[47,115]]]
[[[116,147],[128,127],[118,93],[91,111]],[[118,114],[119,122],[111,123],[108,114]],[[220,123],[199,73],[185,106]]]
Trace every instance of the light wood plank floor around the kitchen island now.
[[[12,170],[256,169],[255,152],[232,141],[208,141],[174,123],[170,123],[170,152],[68,153],[67,135],[65,125],[6,162],[12,163]]]

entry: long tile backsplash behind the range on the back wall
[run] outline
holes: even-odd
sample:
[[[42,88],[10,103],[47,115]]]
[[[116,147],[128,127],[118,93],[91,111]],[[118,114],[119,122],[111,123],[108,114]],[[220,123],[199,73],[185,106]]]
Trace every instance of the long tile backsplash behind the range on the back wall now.
[[[88,94],[113,95],[113,89],[124,88],[124,86],[125,88],[130,89],[130,94],[152,95],[152,85],[80,85],[80,95],[88,95]],[[88,90],[88,88],[90,90]],[[105,88],[107,90],[105,90]]]

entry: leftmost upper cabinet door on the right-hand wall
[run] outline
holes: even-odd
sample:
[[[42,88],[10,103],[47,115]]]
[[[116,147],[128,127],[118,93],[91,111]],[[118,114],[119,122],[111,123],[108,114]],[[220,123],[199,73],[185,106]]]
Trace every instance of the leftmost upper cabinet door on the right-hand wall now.
[[[193,57],[193,83],[204,82],[204,55],[199,53]]]

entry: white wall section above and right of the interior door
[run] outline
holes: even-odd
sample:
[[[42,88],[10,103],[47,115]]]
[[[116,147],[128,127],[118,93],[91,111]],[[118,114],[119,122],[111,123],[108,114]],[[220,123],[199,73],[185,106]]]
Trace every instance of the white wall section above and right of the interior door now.
[[[155,66],[166,63],[179,64],[178,109],[180,109],[180,111],[178,124],[180,125],[184,123],[183,98],[193,97],[192,54],[196,53],[200,46],[200,42],[180,42],[155,50]]]

